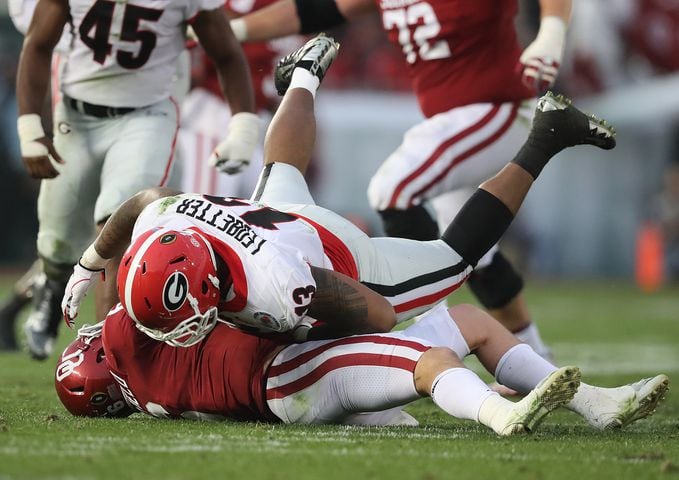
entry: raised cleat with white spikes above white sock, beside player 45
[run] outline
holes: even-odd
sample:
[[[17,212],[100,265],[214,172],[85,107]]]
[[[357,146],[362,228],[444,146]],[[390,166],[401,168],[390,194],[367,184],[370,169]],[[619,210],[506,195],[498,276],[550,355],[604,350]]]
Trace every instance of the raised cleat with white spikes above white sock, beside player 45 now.
[[[298,50],[281,58],[274,74],[278,95],[283,96],[288,91],[292,72],[298,67],[309,70],[312,75],[318,77],[319,81],[323,81],[338,50],[339,43],[334,38],[326,36],[325,33],[319,33]]]

